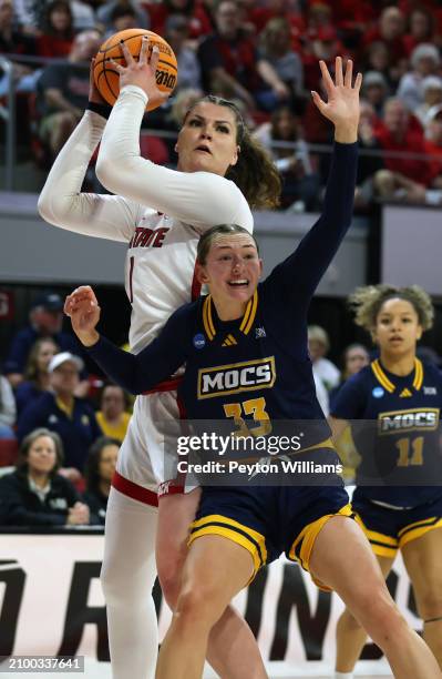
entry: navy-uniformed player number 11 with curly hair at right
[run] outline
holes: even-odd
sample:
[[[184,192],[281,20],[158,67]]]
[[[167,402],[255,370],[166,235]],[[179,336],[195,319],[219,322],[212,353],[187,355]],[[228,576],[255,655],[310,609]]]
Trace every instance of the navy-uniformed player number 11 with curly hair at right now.
[[[433,306],[418,286],[368,286],[350,300],[380,357],[342,386],[332,428],[339,436],[346,420],[371,420],[352,422],[361,455],[352,506],[384,577],[401,550],[423,638],[442,666],[442,375],[415,355]],[[336,676],[348,679],[366,641],[349,610],[338,621],[337,640]]]

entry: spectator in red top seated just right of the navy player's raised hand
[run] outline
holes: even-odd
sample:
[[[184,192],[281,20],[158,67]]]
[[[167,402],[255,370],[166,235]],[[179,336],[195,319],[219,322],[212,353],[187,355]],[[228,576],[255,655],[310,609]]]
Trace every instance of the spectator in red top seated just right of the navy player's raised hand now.
[[[422,192],[424,194],[425,186],[431,181],[429,163],[423,158],[419,160],[389,155],[389,151],[409,152],[422,156],[425,154],[422,129],[400,99],[391,98],[386,102],[383,124],[377,129],[377,138],[384,151],[386,168],[405,180],[411,180],[417,192],[415,200],[420,202]]]

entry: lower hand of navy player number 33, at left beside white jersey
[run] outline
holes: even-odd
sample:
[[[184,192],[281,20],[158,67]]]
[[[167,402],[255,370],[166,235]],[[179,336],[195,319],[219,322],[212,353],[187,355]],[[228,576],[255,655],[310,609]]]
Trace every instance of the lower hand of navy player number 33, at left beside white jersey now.
[[[72,328],[84,346],[92,346],[100,340],[95,327],[101,308],[90,285],[76,287],[64,302],[64,313],[70,316]]]

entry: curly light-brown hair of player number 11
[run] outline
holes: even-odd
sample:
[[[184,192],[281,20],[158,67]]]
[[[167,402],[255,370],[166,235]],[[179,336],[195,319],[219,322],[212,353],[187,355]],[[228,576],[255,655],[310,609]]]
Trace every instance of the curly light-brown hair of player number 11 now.
[[[349,305],[356,313],[356,323],[373,332],[378,315],[388,300],[405,300],[418,314],[422,330],[433,325],[434,308],[430,295],[419,285],[397,287],[395,285],[367,285],[358,287],[349,297]]]

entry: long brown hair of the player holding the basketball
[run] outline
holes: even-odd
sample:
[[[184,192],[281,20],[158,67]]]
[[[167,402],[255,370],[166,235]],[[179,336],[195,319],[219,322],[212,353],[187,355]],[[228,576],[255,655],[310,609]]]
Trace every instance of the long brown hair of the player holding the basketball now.
[[[276,207],[279,204],[281,192],[279,172],[265,148],[250,135],[238,107],[233,101],[207,94],[187,111],[183,124],[186,123],[193,109],[205,101],[217,107],[226,107],[235,115],[236,141],[240,152],[236,165],[227,170],[226,179],[235,182],[251,209]]]

